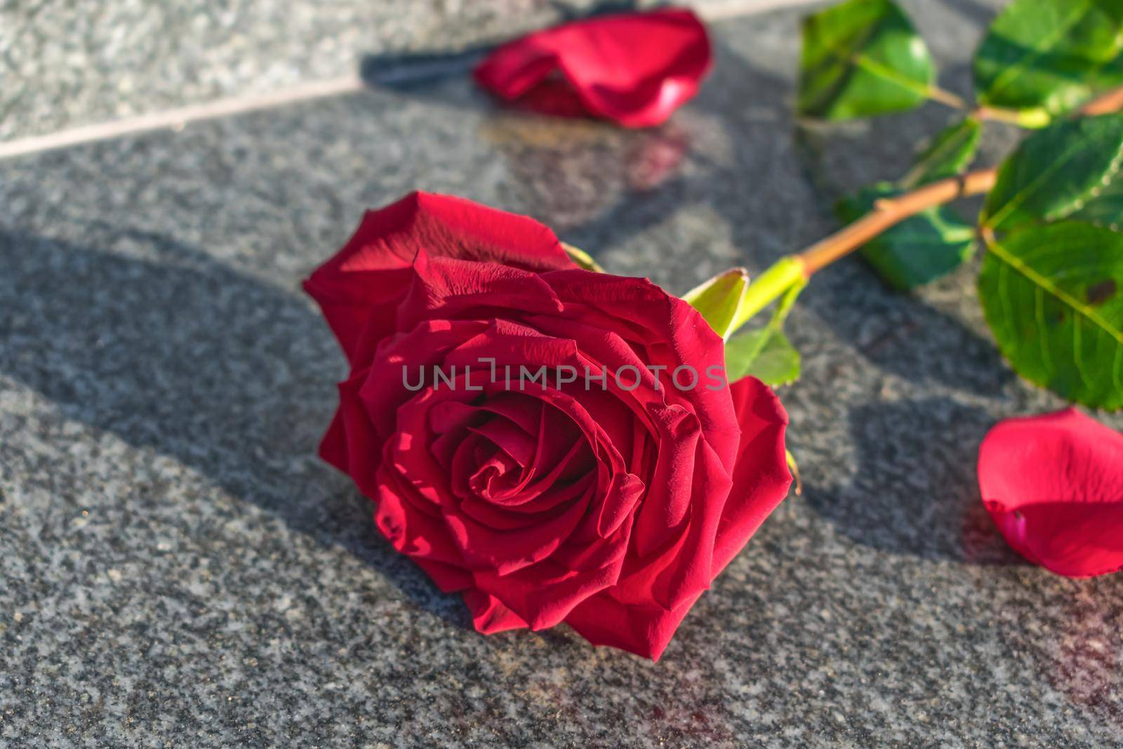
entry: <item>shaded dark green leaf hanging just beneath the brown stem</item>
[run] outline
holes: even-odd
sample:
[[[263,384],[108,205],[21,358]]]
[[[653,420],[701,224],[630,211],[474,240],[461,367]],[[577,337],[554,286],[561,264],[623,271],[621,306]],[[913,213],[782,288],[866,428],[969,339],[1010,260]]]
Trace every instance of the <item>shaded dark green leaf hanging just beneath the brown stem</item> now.
[[[873,210],[877,200],[900,193],[883,182],[840,200],[834,212],[844,222],[855,221]],[[907,291],[956,270],[974,249],[975,228],[944,205],[886,229],[860,252],[887,284]]]

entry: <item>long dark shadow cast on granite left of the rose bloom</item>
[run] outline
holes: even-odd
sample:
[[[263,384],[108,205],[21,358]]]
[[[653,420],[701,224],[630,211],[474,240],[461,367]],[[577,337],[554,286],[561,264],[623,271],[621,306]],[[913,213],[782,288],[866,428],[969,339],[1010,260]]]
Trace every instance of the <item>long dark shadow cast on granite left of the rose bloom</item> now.
[[[199,471],[318,544],[347,549],[419,608],[471,628],[459,596],[442,594],[394,551],[371,521],[369,500],[346,479],[330,481],[334,469],[313,458],[308,426],[326,427],[335,403],[311,394],[332,389],[313,360],[289,351],[318,341],[322,356],[337,354],[311,307],[168,236],[116,232],[158,262],[0,230],[0,266],[13,291],[4,305],[16,310],[0,326],[8,341],[0,375],[69,418]],[[277,401],[262,392],[281,386],[310,398],[286,411],[267,408]]]

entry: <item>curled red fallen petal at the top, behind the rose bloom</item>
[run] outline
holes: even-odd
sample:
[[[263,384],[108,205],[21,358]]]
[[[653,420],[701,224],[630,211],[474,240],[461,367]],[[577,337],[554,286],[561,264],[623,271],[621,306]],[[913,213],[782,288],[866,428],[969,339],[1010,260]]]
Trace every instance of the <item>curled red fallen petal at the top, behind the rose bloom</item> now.
[[[530,34],[495,49],[475,76],[535,111],[650,127],[697,93],[710,64],[702,22],[690,10],[667,8]]]

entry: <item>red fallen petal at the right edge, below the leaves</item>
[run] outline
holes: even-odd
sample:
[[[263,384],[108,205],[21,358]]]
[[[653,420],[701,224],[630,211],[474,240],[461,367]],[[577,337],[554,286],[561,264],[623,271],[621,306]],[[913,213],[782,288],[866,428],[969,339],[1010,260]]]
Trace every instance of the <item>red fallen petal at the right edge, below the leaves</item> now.
[[[1123,569],[1123,435],[1076,409],[994,427],[979,490],[1006,542],[1069,577]]]

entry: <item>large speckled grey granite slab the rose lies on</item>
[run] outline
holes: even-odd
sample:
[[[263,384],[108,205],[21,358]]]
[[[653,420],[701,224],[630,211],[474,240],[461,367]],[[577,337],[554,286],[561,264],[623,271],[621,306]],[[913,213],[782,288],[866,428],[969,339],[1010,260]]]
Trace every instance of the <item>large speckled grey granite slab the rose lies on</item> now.
[[[966,93],[992,11],[909,7]],[[902,172],[948,112],[797,131],[796,22],[719,24],[656,130],[453,76],[0,162],[0,746],[1123,743],[1123,576],[1023,564],[979,503],[986,429],[1059,402],[996,355],[974,267],[816,276],[782,392],[804,494],[658,664],[474,633],[314,457],[344,362],[298,282],[366,207],[462,194],[682,292]]]

